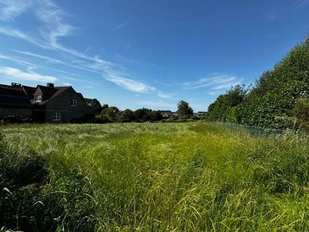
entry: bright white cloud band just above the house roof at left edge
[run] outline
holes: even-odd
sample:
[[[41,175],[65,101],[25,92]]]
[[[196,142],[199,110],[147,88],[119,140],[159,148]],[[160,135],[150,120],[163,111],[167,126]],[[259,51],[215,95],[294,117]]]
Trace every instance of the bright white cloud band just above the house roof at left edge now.
[[[8,78],[14,78],[14,80],[30,80],[33,82],[56,82],[58,78],[53,76],[44,76],[34,71],[22,71],[12,67],[0,67],[0,73]]]

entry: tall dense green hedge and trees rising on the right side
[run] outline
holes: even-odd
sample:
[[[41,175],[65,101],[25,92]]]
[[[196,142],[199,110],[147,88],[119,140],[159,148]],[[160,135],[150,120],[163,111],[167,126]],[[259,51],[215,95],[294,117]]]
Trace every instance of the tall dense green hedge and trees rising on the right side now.
[[[308,112],[308,103],[304,102],[308,97],[309,37],[296,45],[273,70],[264,72],[248,93],[236,86],[220,95],[209,105],[207,120],[308,130],[306,116],[301,116]]]

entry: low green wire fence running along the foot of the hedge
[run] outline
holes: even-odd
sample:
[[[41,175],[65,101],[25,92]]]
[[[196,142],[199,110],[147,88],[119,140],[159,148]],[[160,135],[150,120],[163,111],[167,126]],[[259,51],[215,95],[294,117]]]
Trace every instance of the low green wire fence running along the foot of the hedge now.
[[[263,135],[263,136],[270,136],[270,135],[297,135],[297,137],[308,137],[308,133],[301,132],[299,130],[292,130],[292,129],[273,129],[273,128],[262,128],[260,126],[246,126],[240,124],[230,124],[227,122],[221,121],[207,121],[207,124],[213,124],[218,126],[224,126],[226,128],[231,128],[233,130],[241,131],[241,132],[249,132],[251,135]]]

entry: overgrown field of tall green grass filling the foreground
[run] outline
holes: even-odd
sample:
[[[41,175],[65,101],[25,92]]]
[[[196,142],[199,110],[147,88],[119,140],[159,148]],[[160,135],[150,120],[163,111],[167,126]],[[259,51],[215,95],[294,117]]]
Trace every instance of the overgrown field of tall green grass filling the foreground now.
[[[1,129],[3,231],[309,231],[308,139],[200,122]]]

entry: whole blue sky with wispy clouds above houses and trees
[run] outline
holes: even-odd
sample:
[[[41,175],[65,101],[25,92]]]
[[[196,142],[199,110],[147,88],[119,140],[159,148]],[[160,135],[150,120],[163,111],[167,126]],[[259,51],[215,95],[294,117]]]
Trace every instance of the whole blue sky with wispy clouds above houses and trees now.
[[[120,109],[194,111],[309,33],[309,0],[0,0],[0,82],[71,85]]]

